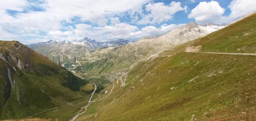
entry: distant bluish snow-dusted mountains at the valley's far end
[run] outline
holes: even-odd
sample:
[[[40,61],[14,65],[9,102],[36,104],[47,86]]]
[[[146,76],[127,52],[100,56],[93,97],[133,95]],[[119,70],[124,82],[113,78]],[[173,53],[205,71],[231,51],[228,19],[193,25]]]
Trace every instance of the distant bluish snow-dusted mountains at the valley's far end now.
[[[76,61],[79,61],[80,59],[83,59],[82,62],[95,60],[95,58],[90,60],[86,55],[89,55],[91,51],[96,50],[99,47],[118,47],[129,43],[133,42],[122,39],[99,42],[84,37],[84,39],[74,40],[72,42],[65,40],[49,40],[47,42],[33,43],[26,46],[67,69],[73,69],[75,67],[74,65],[76,65]]]

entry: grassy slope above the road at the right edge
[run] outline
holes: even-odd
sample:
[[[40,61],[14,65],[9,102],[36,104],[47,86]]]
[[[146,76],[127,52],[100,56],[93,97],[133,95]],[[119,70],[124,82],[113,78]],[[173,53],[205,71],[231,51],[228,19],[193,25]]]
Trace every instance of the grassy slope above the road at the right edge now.
[[[198,38],[190,46],[202,46],[200,52],[256,53],[256,14],[224,29]]]

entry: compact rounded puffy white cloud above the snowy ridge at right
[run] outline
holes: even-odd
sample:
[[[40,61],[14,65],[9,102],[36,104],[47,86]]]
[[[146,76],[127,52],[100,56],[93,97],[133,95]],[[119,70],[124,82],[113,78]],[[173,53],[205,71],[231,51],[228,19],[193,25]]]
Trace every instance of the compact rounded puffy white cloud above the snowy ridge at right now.
[[[225,9],[222,8],[218,2],[200,2],[191,13],[188,18],[195,18],[197,23],[209,23],[214,22],[216,19],[221,18],[224,14]]]

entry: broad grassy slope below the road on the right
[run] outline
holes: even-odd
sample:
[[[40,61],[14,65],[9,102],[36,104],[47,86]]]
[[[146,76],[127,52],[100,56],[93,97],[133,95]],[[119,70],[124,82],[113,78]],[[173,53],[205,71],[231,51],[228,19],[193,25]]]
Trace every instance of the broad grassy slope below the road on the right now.
[[[255,60],[254,56],[180,52],[171,58],[141,63],[144,68],[137,66],[129,73],[128,85],[119,100],[100,112],[95,120],[186,121],[192,114],[200,120],[209,109],[220,112],[218,117],[225,118],[247,107],[255,108],[250,103],[256,98]],[[194,81],[188,82],[192,78]],[[246,93],[250,98],[246,98]]]

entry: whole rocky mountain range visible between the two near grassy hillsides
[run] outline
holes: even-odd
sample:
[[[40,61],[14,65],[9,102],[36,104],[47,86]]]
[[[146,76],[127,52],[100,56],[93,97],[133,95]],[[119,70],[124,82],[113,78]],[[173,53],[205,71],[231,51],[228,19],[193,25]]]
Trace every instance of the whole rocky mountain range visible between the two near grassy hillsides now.
[[[97,42],[85,37],[71,43],[50,40],[27,46],[76,75],[101,77],[113,81],[139,61],[222,28],[224,26],[213,23],[201,26],[192,22],[165,35],[144,37],[137,42],[128,40]]]

